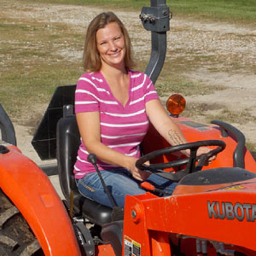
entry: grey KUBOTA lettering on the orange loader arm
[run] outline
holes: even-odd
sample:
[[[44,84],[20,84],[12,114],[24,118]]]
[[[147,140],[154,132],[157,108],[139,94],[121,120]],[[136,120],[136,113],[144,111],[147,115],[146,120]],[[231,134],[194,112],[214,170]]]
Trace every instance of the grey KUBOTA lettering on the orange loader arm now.
[[[209,218],[236,218],[239,221],[243,221],[245,219],[249,222],[253,222],[256,219],[256,204],[241,204],[240,202],[232,204],[225,201],[207,201],[207,208]]]

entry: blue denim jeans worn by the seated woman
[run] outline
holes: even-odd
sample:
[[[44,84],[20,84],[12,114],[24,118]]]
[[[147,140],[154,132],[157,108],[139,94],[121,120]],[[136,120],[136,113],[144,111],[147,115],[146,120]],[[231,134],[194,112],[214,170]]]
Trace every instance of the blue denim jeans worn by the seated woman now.
[[[137,179],[131,176],[131,172],[125,168],[101,171],[102,178],[106,183],[113,200],[119,207],[125,206],[125,195],[142,195],[146,193]],[[164,189],[171,193],[177,186],[177,183],[167,180],[164,177],[151,174],[146,180],[158,189]],[[98,203],[113,207],[108,199],[108,195],[104,192],[101,180],[96,172],[91,172],[84,177],[77,179],[79,192],[85,197],[97,201]]]

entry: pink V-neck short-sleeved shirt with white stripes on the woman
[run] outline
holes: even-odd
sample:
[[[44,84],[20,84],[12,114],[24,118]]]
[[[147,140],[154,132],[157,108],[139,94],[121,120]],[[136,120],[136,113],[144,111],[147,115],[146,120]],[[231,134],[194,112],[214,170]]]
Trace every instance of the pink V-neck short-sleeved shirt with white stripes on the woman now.
[[[124,107],[113,96],[102,73],[84,73],[79,79],[75,92],[75,113],[99,111],[102,143],[122,154],[138,158],[139,145],[148,131],[145,103],[159,99],[159,96],[146,74],[129,70],[129,75],[129,101]],[[88,152],[81,140],[74,166],[76,178],[96,172],[87,161],[87,156]],[[119,167],[100,160],[97,164],[100,170]]]

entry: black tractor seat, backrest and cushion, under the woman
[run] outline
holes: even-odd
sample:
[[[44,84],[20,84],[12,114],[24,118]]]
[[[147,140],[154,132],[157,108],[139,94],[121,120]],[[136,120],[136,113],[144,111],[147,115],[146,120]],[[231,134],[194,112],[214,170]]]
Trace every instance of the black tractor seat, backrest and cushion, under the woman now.
[[[70,192],[73,190],[73,205],[75,212],[82,214],[92,223],[103,225],[111,222],[112,208],[102,206],[96,201],[84,197],[79,193],[73,166],[75,164],[80,145],[80,134],[77,120],[74,115],[59,119],[56,130],[57,164],[61,183],[61,190],[67,203],[70,201]]]

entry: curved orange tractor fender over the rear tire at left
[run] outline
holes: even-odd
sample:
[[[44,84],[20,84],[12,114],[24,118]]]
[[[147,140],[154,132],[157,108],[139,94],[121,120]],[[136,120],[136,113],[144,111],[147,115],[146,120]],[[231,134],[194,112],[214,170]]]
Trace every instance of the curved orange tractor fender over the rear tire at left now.
[[[0,154],[0,187],[26,218],[44,254],[81,255],[71,220],[49,178],[18,148],[7,148],[9,152]]]

